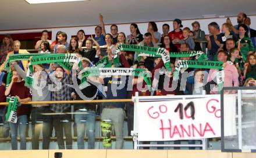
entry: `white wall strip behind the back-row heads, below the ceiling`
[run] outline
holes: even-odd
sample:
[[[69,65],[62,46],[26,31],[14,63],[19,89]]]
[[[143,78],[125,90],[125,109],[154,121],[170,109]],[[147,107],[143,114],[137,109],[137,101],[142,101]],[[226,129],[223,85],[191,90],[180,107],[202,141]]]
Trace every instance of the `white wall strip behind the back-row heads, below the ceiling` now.
[[[251,18],[251,28],[256,29],[256,16],[249,16]],[[233,24],[237,23],[236,17],[230,17]],[[195,20],[183,20],[182,24],[184,27],[190,27],[191,23],[193,23]],[[226,17],[224,18],[212,18],[212,19],[197,19],[197,21],[200,22],[201,29],[205,31],[205,34],[208,34],[208,24],[212,21],[216,21],[216,23],[221,25],[225,23]],[[105,21],[107,23],[107,21]],[[170,30],[172,30],[172,21],[163,21],[163,22],[157,22],[158,31],[159,33],[162,33],[162,24],[167,23],[170,25]],[[74,24],[75,25],[75,24]],[[106,32],[110,32],[110,26],[106,25]],[[147,31],[148,23],[138,23],[138,28],[140,29],[141,33],[144,34]],[[52,31],[52,40],[55,39],[55,35],[58,31],[63,31],[67,33],[67,41],[70,40],[71,35],[76,35],[77,31],[80,29],[83,29],[86,34],[94,34],[94,28],[95,26],[88,26],[88,27],[65,27],[65,28],[48,28],[47,30]],[[119,24],[118,25],[119,32],[123,32],[126,35],[130,34],[130,24]],[[42,29],[33,29],[33,30],[19,30],[19,31],[0,31],[0,34],[6,34],[6,33],[31,33],[31,32],[40,32]]]

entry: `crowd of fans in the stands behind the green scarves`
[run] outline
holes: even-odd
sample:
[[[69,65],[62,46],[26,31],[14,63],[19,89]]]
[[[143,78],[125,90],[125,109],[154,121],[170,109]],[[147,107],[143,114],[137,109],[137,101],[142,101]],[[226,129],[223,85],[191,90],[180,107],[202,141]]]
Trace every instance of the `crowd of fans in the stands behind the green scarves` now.
[[[113,24],[111,26],[111,33],[106,33],[103,16],[99,15],[101,26],[95,27],[95,37],[91,35],[86,39],[84,30],[77,32],[77,37],[72,37],[67,42],[67,34],[59,31],[56,34],[54,41],[49,40],[48,31],[42,31],[41,40],[35,44],[35,49],[38,53],[76,53],[82,60],[83,68],[90,69],[92,64],[108,56],[108,60],[113,60],[116,48],[119,44],[133,44],[140,46],[151,46],[165,48],[168,52],[184,52],[184,51],[202,51],[207,53],[209,61],[223,62],[224,69],[224,87],[255,87],[256,86],[256,55],[255,55],[255,40],[256,30],[250,28],[250,18],[245,13],[237,15],[237,24],[231,23],[230,19],[222,24],[221,28],[216,22],[208,24],[209,34],[200,29],[200,23],[194,21],[191,26],[184,27],[180,19],[173,20],[173,30],[170,31],[169,24],[163,24],[162,34],[159,33],[157,24],[153,21],[148,23],[147,33],[144,35],[140,33],[137,24],[130,24],[130,34],[118,32],[118,26]],[[183,29],[182,29],[183,28]],[[34,87],[26,87],[24,80],[26,79],[26,71],[29,61],[22,60],[12,62],[10,69],[12,70],[12,81],[6,87],[6,78],[8,72],[4,71],[5,64],[9,59],[9,55],[29,53],[25,49],[20,49],[20,42],[13,41],[8,34],[3,38],[0,48],[0,71],[1,86],[0,86],[0,102],[6,102],[7,96],[17,96],[19,102],[29,101],[45,101],[45,100],[83,100],[73,88],[68,87],[67,84],[72,84],[72,73],[64,69],[59,64],[49,63],[33,66],[35,78],[38,81],[42,78],[42,73],[47,75],[47,85],[42,89],[41,94],[38,93]],[[94,99],[126,99],[134,96],[136,92],[140,96],[150,95],[195,95],[195,94],[216,94],[215,87],[209,87],[213,84],[216,78],[216,69],[193,69],[183,68],[180,71],[180,78],[177,82],[177,88],[168,90],[173,83],[173,71],[177,60],[197,60],[193,57],[183,57],[180,59],[172,58],[170,56],[170,66],[172,73],[169,76],[161,74],[159,69],[165,69],[165,65],[161,58],[153,58],[150,56],[141,56],[136,58],[135,52],[121,51],[119,53],[120,63],[126,68],[139,68],[150,71],[152,74],[152,88],[153,91],[143,90],[137,88],[136,84],[142,83],[145,87],[145,82],[141,77],[134,77],[132,84],[133,88],[129,91],[127,86],[128,79],[122,80],[121,76],[99,76],[88,77],[87,80],[96,82],[98,85],[90,84],[88,87],[81,89],[83,95]],[[88,61],[88,59],[90,61]],[[138,60],[139,59],[139,60]],[[112,66],[114,69],[114,66]],[[36,73],[40,71],[41,73]],[[159,73],[158,77],[155,74]],[[186,86],[181,84],[184,73],[192,73],[190,77],[185,78]],[[48,85],[56,84],[51,80],[54,76],[56,80],[60,81],[62,86],[58,91],[49,91]],[[168,77],[168,84],[164,81]],[[77,79],[80,83],[80,80]],[[207,82],[207,84],[204,84]],[[123,88],[116,89],[113,94],[113,84],[116,87],[125,85]],[[216,85],[216,83],[215,83]],[[106,95],[102,95],[104,91]],[[167,87],[167,88],[166,88]],[[100,90],[100,91],[98,91]],[[56,103],[54,105],[20,105],[17,108],[17,123],[8,123],[5,120],[6,107],[0,106],[0,121],[4,123],[2,137],[10,137],[12,139],[12,149],[17,148],[17,129],[19,127],[20,134],[20,149],[26,149],[26,131],[27,123],[31,118],[32,128],[32,148],[39,149],[39,137],[41,129],[36,128],[38,122],[42,121],[42,149],[49,149],[50,137],[53,128],[57,137],[59,149],[72,149],[72,115],[58,114],[74,112],[74,122],[77,133],[77,146],[79,149],[84,149],[84,135],[85,132],[88,137],[88,149],[94,149],[95,143],[95,117],[101,113],[101,120],[111,120],[116,135],[116,149],[123,148],[123,120],[127,114],[128,117],[128,131],[133,130],[133,103],[112,102],[101,105],[103,110],[99,110],[99,106],[93,103],[80,103],[74,105],[69,103]],[[87,113],[83,113],[84,111]],[[52,115],[42,115],[42,113],[54,113]],[[63,121],[65,120],[65,121]],[[84,121],[86,120],[86,121]],[[63,135],[66,137],[66,145],[64,143]]]

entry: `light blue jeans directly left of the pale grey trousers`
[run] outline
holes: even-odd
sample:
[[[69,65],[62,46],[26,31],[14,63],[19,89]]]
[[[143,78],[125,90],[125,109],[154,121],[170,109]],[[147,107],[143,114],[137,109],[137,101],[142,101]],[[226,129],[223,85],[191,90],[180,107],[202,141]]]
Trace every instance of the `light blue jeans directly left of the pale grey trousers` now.
[[[94,149],[95,142],[95,117],[94,111],[76,110],[77,113],[84,112],[84,114],[75,114],[74,121],[77,128],[77,146],[78,149],[84,149],[84,134],[88,137],[88,149]]]

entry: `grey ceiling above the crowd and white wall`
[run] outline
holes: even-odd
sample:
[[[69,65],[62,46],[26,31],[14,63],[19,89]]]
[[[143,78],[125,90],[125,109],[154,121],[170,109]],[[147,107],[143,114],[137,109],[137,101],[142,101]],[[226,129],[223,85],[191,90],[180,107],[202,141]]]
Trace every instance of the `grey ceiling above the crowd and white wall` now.
[[[24,0],[0,0],[0,31],[90,26],[99,13],[110,23],[197,19],[202,15],[256,15],[255,0],[90,0],[29,4]]]

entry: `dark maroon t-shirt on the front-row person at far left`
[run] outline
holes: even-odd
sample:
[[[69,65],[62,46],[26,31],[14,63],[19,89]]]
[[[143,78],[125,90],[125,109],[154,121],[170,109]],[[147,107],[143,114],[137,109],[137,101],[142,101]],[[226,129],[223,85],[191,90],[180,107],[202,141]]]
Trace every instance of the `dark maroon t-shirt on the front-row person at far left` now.
[[[10,96],[19,96],[20,99],[32,98],[30,89],[25,87],[25,81],[13,82],[12,88],[10,88]],[[29,106],[22,105],[17,108],[17,116],[29,114]]]

